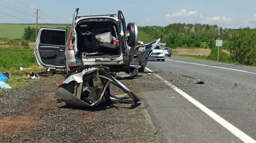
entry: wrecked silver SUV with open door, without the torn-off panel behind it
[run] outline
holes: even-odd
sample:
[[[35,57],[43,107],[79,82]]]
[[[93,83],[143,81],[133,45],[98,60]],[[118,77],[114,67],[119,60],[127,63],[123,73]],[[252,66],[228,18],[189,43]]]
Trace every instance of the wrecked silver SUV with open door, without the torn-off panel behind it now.
[[[138,43],[136,23],[126,25],[121,11],[117,15],[78,16],[78,10],[69,35],[67,30],[40,28],[35,46],[38,65],[66,67],[68,72],[92,66],[107,66],[110,72],[130,73],[135,68],[144,71],[150,52],[139,56],[134,51]]]

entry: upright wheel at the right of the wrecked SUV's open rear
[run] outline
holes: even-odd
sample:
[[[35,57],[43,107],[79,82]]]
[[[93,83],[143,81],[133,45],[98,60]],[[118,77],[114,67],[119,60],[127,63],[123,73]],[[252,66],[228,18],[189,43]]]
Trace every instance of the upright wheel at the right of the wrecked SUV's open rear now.
[[[138,27],[134,22],[127,24],[126,33],[129,33],[127,36],[127,43],[130,47],[135,47],[138,45]]]

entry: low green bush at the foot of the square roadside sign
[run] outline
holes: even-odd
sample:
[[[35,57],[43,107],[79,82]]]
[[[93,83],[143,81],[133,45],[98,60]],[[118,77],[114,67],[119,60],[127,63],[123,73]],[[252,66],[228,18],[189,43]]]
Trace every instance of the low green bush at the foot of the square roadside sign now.
[[[214,47],[211,49],[207,60],[218,61],[218,47]],[[230,56],[227,53],[223,52],[221,48],[219,52],[219,62],[230,62]]]

